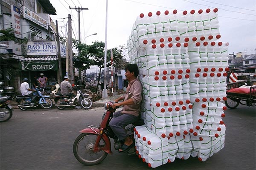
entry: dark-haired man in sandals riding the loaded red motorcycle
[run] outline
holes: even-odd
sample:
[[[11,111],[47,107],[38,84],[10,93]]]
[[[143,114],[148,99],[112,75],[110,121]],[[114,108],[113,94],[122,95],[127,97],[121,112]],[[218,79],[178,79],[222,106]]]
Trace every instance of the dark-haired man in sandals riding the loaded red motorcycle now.
[[[142,101],[142,85],[137,79],[139,69],[136,64],[128,64],[125,66],[125,77],[129,81],[126,94],[114,100],[113,108],[123,105],[122,111],[113,114],[113,119],[109,125],[123,145],[119,152],[125,152],[130,149],[133,140],[127,135],[125,126],[137,122],[140,116],[140,102]],[[123,100],[123,102],[119,102]]]

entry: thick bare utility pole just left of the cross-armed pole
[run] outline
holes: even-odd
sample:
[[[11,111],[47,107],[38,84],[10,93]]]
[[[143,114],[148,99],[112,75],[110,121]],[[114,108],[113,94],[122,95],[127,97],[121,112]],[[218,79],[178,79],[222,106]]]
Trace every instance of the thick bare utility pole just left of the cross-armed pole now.
[[[72,51],[72,23],[71,23],[71,15],[68,14],[68,59],[69,59],[69,73],[70,73],[70,83],[74,84],[74,70],[73,70],[73,51]]]

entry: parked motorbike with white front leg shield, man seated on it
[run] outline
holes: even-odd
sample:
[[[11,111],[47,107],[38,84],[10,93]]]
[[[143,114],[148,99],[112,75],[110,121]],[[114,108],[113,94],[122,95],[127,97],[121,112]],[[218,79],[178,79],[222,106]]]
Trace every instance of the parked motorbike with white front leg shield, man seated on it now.
[[[55,91],[56,91],[56,89],[55,89]],[[82,108],[89,109],[92,106],[93,102],[88,97],[88,95],[83,94],[81,92],[79,85],[74,86],[73,90],[76,90],[76,96],[74,98],[70,98],[69,96],[61,95],[60,87],[58,87],[57,93],[53,93],[53,91],[52,91],[52,94],[55,95],[55,106],[58,109],[63,110],[66,107],[73,107],[73,106],[80,104]]]

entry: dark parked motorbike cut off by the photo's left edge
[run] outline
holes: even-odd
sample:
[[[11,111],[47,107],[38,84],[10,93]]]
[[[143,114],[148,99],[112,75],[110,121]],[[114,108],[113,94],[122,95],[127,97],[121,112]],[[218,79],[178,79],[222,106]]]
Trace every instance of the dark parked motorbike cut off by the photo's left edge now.
[[[12,106],[10,96],[0,97],[0,122],[6,122],[12,117]]]

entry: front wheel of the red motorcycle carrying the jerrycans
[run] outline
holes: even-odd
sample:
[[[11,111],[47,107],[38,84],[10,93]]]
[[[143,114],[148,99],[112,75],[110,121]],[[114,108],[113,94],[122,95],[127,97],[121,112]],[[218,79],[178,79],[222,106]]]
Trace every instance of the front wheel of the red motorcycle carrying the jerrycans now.
[[[107,156],[104,150],[94,153],[93,147],[96,141],[97,135],[92,133],[81,133],[73,144],[73,153],[76,159],[85,165],[96,165],[102,162]],[[101,139],[99,146],[106,145],[104,139]]]

